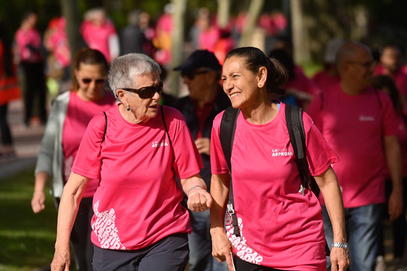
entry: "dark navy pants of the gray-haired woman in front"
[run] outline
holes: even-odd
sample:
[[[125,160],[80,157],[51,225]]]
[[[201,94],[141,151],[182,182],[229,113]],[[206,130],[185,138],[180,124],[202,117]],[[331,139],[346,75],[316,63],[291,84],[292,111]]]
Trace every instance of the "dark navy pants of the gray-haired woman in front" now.
[[[94,246],[94,251],[94,271],[184,271],[189,258],[186,233],[171,234],[137,250]]]

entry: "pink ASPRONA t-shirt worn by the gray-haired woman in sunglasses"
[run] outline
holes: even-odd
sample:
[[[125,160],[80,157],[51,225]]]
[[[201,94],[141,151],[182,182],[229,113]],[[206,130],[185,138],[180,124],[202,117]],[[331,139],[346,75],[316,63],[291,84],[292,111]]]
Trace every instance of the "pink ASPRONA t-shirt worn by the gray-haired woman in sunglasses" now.
[[[191,233],[189,214],[180,204],[181,179],[199,173],[202,160],[185,119],[164,106],[168,141],[160,109],[155,118],[132,124],[118,105],[89,122],[72,171],[100,183],[93,197],[92,242],[105,249],[141,249],[174,233]],[[175,162],[173,162],[173,153]]]

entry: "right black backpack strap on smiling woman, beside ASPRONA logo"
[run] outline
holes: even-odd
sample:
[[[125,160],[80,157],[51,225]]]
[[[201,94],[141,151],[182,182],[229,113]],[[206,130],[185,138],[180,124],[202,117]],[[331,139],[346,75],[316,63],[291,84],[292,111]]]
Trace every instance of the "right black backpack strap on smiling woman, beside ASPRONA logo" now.
[[[285,118],[287,129],[290,135],[290,142],[295,153],[295,162],[298,166],[298,171],[301,177],[301,186],[298,192],[304,195],[305,188],[311,188],[311,191],[316,197],[319,196],[319,186],[311,176],[306,160],[306,144],[305,144],[305,129],[302,120],[302,109],[295,105],[285,105]],[[325,240],[325,254],[330,255],[328,243]]]

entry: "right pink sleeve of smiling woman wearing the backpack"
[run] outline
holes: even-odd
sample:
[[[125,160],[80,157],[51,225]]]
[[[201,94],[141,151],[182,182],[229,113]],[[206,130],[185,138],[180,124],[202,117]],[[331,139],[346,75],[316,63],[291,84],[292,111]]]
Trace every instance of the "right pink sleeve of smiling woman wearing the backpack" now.
[[[303,120],[304,128],[309,127],[305,136],[309,170],[311,175],[318,176],[324,173],[331,164],[339,162],[339,158],[307,114],[303,115]]]

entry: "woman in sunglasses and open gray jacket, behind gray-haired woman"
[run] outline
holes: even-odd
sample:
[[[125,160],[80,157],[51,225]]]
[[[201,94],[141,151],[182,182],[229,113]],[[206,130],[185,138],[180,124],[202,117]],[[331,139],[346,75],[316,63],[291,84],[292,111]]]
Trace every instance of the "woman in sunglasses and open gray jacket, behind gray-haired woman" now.
[[[52,195],[57,209],[62,190],[68,181],[73,161],[89,121],[94,115],[116,104],[116,99],[103,86],[108,65],[98,50],[83,48],[76,54],[72,88],[59,95],[52,105],[35,167],[35,187],[31,206],[35,213],[44,210],[44,188],[52,178]],[[77,270],[92,270],[93,245],[90,240],[92,200],[99,178],[88,182],[79,203],[79,212],[72,227],[70,241]]]

